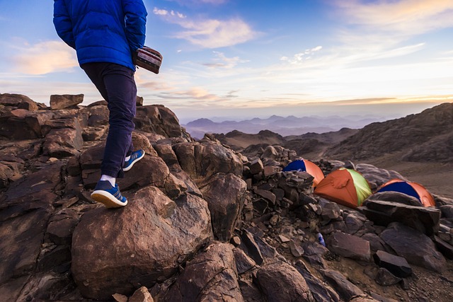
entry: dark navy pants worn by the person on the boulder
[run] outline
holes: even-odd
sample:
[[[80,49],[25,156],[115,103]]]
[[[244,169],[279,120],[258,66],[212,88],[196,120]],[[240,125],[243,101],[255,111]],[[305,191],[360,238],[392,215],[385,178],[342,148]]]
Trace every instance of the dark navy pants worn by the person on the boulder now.
[[[132,131],[136,112],[137,86],[134,71],[126,66],[100,62],[87,63],[81,66],[108,102],[110,124],[101,174],[114,178],[123,178],[125,157],[133,151]]]

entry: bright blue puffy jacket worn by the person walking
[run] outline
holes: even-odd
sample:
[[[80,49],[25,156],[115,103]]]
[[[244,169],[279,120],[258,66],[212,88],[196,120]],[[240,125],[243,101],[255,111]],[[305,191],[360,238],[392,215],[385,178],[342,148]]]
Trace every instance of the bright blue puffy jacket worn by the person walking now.
[[[142,0],[54,0],[57,34],[79,64],[111,62],[135,70],[132,54],[144,45],[147,9]]]

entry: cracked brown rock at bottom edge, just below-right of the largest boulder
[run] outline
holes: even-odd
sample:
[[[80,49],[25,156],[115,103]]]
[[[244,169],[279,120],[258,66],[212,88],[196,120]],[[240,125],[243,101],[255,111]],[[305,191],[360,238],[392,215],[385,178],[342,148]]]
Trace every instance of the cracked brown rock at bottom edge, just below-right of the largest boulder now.
[[[243,301],[233,248],[229,243],[210,244],[187,263],[162,301]]]

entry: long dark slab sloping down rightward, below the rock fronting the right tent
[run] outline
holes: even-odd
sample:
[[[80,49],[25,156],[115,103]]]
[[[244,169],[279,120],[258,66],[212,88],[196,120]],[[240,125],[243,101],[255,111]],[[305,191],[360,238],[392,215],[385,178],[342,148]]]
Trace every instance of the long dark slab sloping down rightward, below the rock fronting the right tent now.
[[[396,255],[406,258],[413,264],[435,272],[443,272],[445,258],[435,249],[434,243],[428,236],[402,223],[390,223],[380,234]]]

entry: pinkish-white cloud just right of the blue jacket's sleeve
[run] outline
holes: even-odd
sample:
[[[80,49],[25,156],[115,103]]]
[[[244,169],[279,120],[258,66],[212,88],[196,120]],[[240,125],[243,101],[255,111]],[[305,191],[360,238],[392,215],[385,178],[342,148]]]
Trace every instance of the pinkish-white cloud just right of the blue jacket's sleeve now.
[[[159,8],[154,8],[153,13],[164,18],[166,22],[180,25],[184,29],[173,37],[187,40],[203,48],[233,46],[252,40],[257,35],[241,18],[193,20],[183,13]]]

